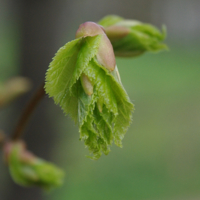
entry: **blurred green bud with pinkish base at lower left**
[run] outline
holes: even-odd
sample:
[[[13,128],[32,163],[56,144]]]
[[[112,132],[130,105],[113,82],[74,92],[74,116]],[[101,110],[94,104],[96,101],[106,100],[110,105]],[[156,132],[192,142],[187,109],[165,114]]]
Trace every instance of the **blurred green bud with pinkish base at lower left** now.
[[[4,152],[10,174],[17,184],[45,190],[62,184],[63,171],[27,151],[22,141],[6,143]]]

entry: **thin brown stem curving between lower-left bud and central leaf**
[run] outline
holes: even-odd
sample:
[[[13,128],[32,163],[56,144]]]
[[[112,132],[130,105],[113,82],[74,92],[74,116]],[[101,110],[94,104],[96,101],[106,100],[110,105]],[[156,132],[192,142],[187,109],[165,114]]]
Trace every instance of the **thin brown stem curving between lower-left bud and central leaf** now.
[[[31,114],[34,109],[37,107],[40,100],[45,96],[44,83],[38,88],[36,93],[33,95],[31,100],[28,102],[24,112],[22,113],[16,128],[14,129],[13,135],[11,136],[12,140],[18,140],[24,131],[28,120],[30,119]]]

